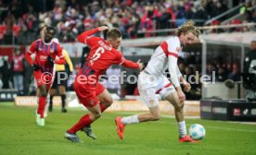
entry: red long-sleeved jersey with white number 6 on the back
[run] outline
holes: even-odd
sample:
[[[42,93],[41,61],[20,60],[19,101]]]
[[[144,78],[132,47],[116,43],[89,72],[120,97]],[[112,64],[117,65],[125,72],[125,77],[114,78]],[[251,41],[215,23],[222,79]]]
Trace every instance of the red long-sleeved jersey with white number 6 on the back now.
[[[91,51],[86,59],[86,63],[78,75],[86,77],[91,75],[102,75],[111,65],[122,65],[130,68],[138,68],[138,64],[124,59],[122,53],[113,48],[108,42],[99,37],[89,37],[96,33],[98,29],[88,30],[77,36],[79,42],[91,46]]]

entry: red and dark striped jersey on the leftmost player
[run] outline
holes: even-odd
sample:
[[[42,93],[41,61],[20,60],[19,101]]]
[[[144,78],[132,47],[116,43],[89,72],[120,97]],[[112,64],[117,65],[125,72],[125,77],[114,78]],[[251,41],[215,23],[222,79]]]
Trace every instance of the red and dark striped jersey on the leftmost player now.
[[[62,48],[58,42],[51,41],[45,43],[42,39],[32,42],[31,47],[28,50],[29,56],[26,56],[30,65],[39,65],[42,67],[42,72],[52,72],[54,64],[47,61],[47,57],[51,56],[54,60],[56,56],[59,59],[63,59]],[[30,55],[35,54],[35,59],[32,61]]]

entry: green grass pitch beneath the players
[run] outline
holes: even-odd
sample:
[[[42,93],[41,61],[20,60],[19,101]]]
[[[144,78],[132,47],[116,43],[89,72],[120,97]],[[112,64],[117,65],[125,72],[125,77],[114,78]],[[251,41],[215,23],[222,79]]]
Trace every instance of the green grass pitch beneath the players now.
[[[103,113],[92,126],[97,139],[78,136],[81,143],[66,140],[65,130],[74,125],[83,113],[69,109],[60,113],[54,109],[45,126],[35,124],[34,107],[17,107],[13,102],[0,102],[0,155],[255,155],[256,125],[236,122],[186,119],[189,125],[198,123],[206,128],[206,137],[198,144],[178,142],[177,125],[173,117],[163,114],[158,122],[127,125],[124,139],[116,133],[117,115],[133,113]]]

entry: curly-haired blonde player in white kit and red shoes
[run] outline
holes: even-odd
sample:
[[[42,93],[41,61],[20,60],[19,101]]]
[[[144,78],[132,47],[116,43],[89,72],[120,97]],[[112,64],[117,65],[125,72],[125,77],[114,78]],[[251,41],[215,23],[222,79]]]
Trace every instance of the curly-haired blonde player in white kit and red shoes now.
[[[186,135],[186,122],[184,119],[185,91],[190,90],[190,84],[186,82],[177,66],[178,53],[182,46],[194,42],[200,34],[193,21],[187,21],[176,30],[176,36],[162,42],[152,54],[147,67],[139,74],[138,89],[143,102],[147,105],[149,113],[135,114],[127,117],[117,117],[116,125],[119,137],[123,138],[125,125],[137,124],[147,121],[158,121],[160,119],[159,101],[156,96],[160,94],[162,99],[169,101],[174,106],[175,118],[178,125],[180,142],[198,142]],[[163,73],[169,69],[172,83]]]

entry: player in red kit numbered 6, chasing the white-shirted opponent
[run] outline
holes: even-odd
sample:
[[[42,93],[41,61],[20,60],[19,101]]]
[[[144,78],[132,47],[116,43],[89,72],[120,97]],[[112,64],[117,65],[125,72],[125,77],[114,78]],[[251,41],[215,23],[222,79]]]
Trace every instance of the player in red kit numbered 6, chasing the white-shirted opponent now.
[[[90,37],[97,31],[107,32],[107,40],[99,37]],[[65,137],[72,142],[79,142],[77,131],[84,131],[84,127],[91,125],[100,117],[113,102],[109,91],[99,82],[98,78],[104,74],[111,65],[122,65],[129,68],[142,69],[143,65],[126,60],[122,53],[116,50],[122,42],[122,33],[117,29],[110,29],[106,26],[98,27],[94,30],[88,30],[77,36],[79,42],[91,46],[83,68],[78,72],[74,80],[74,90],[79,101],[90,113],[83,115],[80,121],[73,125],[65,133]],[[85,131],[84,131],[85,132]]]

